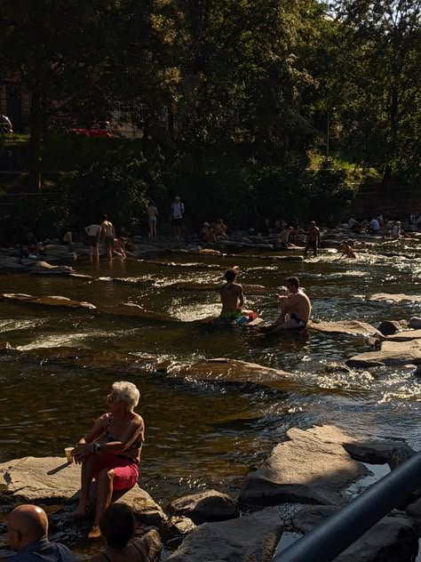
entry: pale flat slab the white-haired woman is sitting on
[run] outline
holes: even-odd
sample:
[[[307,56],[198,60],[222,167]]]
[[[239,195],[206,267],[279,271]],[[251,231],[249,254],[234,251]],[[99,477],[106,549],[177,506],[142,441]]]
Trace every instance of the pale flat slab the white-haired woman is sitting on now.
[[[80,490],[80,466],[60,457],[24,457],[0,464],[1,494],[25,503],[75,502]],[[134,486],[115,494],[116,502],[130,505],[139,520],[158,525],[165,515],[145,490]]]

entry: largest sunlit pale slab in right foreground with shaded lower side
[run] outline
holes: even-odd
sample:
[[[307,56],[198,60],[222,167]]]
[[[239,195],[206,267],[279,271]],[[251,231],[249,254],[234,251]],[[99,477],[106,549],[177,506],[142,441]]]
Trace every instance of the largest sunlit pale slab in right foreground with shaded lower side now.
[[[341,492],[347,486],[369,474],[343,447],[354,439],[334,426],[291,429],[287,438],[274,447],[258,470],[247,475],[239,498],[241,506],[336,504],[344,502]]]

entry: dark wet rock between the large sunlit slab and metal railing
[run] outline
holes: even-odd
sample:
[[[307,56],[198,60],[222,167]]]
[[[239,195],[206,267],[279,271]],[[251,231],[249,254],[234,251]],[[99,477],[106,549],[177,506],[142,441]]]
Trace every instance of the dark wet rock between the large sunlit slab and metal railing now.
[[[389,464],[395,468],[406,461],[415,451],[405,441],[362,441],[344,443],[344,448],[355,461],[369,464]]]

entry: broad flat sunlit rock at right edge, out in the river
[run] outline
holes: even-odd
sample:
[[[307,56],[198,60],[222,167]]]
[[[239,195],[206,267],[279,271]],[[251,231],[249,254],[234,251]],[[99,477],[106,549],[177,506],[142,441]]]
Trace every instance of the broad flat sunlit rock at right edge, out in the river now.
[[[421,364],[421,340],[383,341],[378,351],[361,353],[346,361],[346,365],[356,368],[410,364]]]

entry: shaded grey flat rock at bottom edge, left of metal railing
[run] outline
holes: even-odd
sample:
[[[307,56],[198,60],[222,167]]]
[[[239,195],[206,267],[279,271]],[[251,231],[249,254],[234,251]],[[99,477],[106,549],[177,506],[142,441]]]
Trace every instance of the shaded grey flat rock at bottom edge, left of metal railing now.
[[[204,523],[196,527],[169,562],[270,562],[282,535],[277,510]]]

